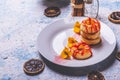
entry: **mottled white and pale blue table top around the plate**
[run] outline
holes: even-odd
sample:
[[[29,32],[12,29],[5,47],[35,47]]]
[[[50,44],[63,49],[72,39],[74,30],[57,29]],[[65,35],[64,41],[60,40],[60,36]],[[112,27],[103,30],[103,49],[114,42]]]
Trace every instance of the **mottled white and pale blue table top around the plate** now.
[[[48,6],[58,6],[61,14],[55,18],[44,16]],[[100,0],[98,19],[114,32],[120,49],[120,24],[111,23],[108,15],[120,10],[120,0]],[[36,76],[28,76],[23,64],[31,58],[39,59],[36,40],[45,26],[65,18],[71,11],[69,0],[0,0],[0,80],[87,80],[86,76],[66,76],[47,66]],[[106,80],[120,80],[120,62],[115,60],[102,71]]]

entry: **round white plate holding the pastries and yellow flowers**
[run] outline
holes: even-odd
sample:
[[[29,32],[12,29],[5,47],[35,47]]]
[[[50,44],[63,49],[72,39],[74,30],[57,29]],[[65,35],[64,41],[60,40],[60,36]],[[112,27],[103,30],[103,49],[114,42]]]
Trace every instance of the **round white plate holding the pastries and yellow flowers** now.
[[[80,21],[83,18],[80,18]],[[101,44],[92,47],[93,56],[86,60],[65,60],[58,56],[67,44],[67,39],[74,35],[73,25],[65,19],[57,20],[41,31],[37,40],[38,51],[48,61],[66,67],[85,67],[99,63],[109,57],[115,46],[116,38],[112,30],[101,23]]]

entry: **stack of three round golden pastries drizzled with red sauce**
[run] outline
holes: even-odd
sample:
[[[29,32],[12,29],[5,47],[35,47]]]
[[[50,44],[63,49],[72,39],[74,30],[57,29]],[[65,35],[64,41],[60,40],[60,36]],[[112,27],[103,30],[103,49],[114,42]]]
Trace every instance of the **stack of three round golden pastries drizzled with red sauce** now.
[[[96,45],[101,42],[100,22],[93,18],[83,20],[80,25],[81,41],[88,45]]]

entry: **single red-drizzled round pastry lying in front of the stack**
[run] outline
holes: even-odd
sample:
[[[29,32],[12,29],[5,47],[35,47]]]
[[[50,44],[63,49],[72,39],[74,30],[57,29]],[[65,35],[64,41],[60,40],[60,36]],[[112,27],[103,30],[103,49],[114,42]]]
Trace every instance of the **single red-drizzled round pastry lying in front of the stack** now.
[[[88,59],[92,56],[91,48],[83,42],[74,44],[71,47],[71,52],[73,53],[73,58],[78,60]]]

